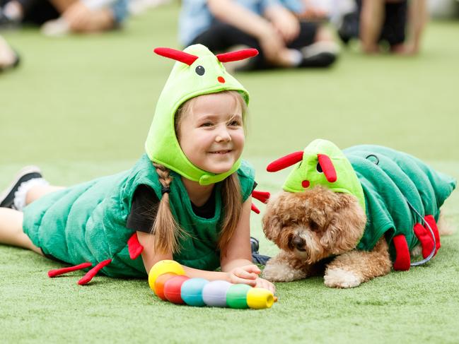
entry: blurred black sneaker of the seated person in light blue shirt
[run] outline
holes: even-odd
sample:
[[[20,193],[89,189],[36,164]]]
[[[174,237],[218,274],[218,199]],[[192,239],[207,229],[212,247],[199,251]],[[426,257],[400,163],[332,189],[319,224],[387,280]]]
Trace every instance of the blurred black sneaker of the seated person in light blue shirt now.
[[[335,42],[315,42],[301,48],[301,54],[303,54],[301,67],[327,67],[337,59],[339,46]]]

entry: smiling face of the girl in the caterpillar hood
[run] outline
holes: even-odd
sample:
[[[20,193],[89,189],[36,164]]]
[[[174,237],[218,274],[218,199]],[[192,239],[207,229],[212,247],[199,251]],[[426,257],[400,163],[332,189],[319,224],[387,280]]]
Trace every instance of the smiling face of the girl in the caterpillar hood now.
[[[200,95],[178,118],[178,142],[194,166],[219,174],[240,158],[245,136],[237,97],[228,92]]]

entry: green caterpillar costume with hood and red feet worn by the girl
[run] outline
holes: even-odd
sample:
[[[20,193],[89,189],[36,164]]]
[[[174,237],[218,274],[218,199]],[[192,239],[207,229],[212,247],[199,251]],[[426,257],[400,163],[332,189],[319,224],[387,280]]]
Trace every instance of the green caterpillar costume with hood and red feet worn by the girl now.
[[[180,251],[173,258],[192,268],[214,270],[219,266],[216,251],[223,220],[220,185],[216,184],[214,218],[194,215],[190,198],[180,176],[214,184],[237,172],[243,201],[252,193],[254,172],[238,160],[232,169],[213,174],[192,165],[175,136],[174,116],[183,102],[197,95],[237,90],[248,103],[249,95],[222,62],[255,56],[255,49],[245,49],[215,56],[202,45],[181,52],[157,48],[163,57],[175,59],[172,72],[161,93],[153,123],[146,140],[146,154],[132,170],[95,179],[62,191],[48,194],[24,209],[23,230],[45,255],[66,263],[78,264],[48,273],[50,277],[81,268],[91,268],[79,280],[88,283],[102,271],[112,277],[145,277],[141,259],[143,247],[136,232],[126,228],[137,186],[146,184],[162,197],[162,186],[153,162],[168,167],[174,182],[170,184],[170,208],[175,219],[190,236],[180,239]]]

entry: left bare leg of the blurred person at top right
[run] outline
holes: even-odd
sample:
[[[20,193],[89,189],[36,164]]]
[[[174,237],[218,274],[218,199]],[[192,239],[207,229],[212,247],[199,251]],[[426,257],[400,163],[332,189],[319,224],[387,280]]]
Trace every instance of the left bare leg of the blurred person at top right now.
[[[368,54],[379,51],[378,41],[385,16],[384,0],[362,0],[360,13],[360,39]]]

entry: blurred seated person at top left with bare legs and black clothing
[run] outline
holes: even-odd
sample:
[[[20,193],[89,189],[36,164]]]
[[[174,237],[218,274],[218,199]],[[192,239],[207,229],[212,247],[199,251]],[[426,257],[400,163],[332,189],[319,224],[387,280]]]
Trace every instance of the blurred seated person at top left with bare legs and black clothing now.
[[[127,16],[127,0],[0,0],[0,6],[0,28],[31,23],[47,35],[112,30]]]

